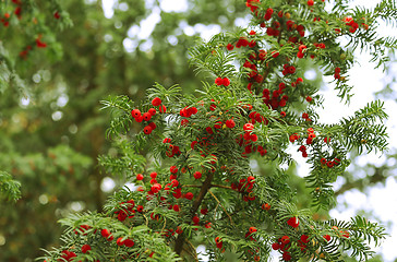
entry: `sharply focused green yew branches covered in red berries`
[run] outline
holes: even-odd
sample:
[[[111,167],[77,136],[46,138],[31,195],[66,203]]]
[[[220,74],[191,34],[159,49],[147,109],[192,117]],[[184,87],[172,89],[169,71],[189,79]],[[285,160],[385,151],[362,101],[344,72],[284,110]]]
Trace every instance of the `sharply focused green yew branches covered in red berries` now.
[[[198,245],[209,261],[267,261],[272,250],[280,261],[371,258],[369,245],[386,237],[382,226],[361,216],[312,216],[335,204],[333,182],[349,166],[350,151],[387,146],[381,100],[325,124],[316,112],[325,98],[304,79],[310,64],[320,67],[348,103],[354,50],[366,48],[382,67],[396,47],[376,35],[381,21],[396,20],[394,1],[373,10],[347,2],[248,0],[246,27],[190,49],[191,64],[207,76],[194,95],[155,83],[140,103],[103,100],[112,116],[106,135],[119,151],[99,163],[130,187],[110,196],[103,213],[61,219],[64,243],[43,259],[198,261]],[[297,206],[287,172],[297,159],[287,148],[311,165],[310,209]],[[272,168],[257,170],[254,162]]]

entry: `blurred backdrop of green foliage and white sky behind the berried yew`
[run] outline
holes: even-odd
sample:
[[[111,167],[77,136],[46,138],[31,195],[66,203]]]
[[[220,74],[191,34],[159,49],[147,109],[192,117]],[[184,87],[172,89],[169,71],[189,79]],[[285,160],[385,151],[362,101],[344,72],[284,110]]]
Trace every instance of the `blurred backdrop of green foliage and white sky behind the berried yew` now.
[[[50,10],[47,15],[51,17],[50,2],[36,8]],[[140,100],[154,82],[166,86],[178,83],[184,92],[193,92],[205,75],[195,75],[193,68],[188,67],[188,48],[200,37],[208,39],[221,29],[244,26],[248,12],[243,2],[60,1],[74,26],[60,33],[51,24],[55,20],[46,20],[50,24],[43,39],[49,43],[48,48],[37,49],[26,59],[19,53],[37,35],[29,38],[23,34],[26,28],[10,31],[11,27],[0,25],[0,55],[4,47],[24,80],[24,88],[17,84],[0,85],[0,170],[22,183],[22,198],[15,204],[0,202],[0,261],[34,261],[43,255],[40,248],[50,249],[59,243],[59,218],[73,212],[101,210],[107,195],[123,181],[108,177],[97,166],[100,154],[115,152],[105,136],[109,115],[99,110],[99,100],[117,94]],[[370,8],[376,2],[352,4]],[[392,55],[390,58],[394,60]],[[329,214],[345,219],[366,214],[388,226],[388,233],[396,236],[392,222],[397,207],[390,203],[397,202],[393,194],[397,188],[397,142],[393,136],[397,122],[393,116],[397,67],[390,63],[384,73],[372,70],[374,64],[369,60],[360,55],[362,67],[354,68],[349,78],[357,93],[350,109],[336,106],[336,93],[324,85],[329,80],[321,78],[318,69],[311,69],[304,76],[305,81],[323,86],[326,104],[322,114],[329,122],[351,115],[375,96],[386,99],[390,152],[381,158],[358,158],[351,154],[353,164],[349,172],[336,183],[339,205]],[[298,192],[304,192],[301,177],[308,167],[304,163],[298,166],[289,169],[299,175],[291,183]],[[302,207],[309,204],[305,196],[300,198]],[[321,219],[329,214],[315,215]],[[393,253],[395,239],[385,242],[380,250],[383,258],[373,261],[397,261],[397,253]]]

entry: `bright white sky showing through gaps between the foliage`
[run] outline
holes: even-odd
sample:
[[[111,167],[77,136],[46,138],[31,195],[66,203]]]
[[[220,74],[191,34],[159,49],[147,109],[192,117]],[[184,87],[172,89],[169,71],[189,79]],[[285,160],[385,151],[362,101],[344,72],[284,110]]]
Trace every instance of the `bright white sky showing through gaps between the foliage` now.
[[[111,17],[113,15],[112,7],[117,3],[118,0],[103,0],[104,13],[106,17]],[[120,1],[121,3],[122,1]],[[361,5],[368,9],[375,7],[380,0],[353,0],[351,1],[352,5]],[[140,25],[131,26],[128,38],[124,40],[124,48],[127,51],[132,52],[137,47],[139,39],[147,39],[144,46],[141,46],[141,50],[149,50],[152,47],[151,41],[151,33],[153,32],[155,25],[160,22],[160,12],[184,12],[188,10],[188,4],[185,0],[160,0],[159,7],[155,5],[154,0],[146,0],[146,7],[152,9],[152,14],[147,16],[144,21],[141,22]],[[330,5],[328,5],[329,8]],[[122,3],[121,9],[128,10],[127,3]],[[237,20],[234,23],[237,26],[245,25],[245,21],[243,19]],[[218,25],[208,25],[205,26],[203,24],[197,24],[195,26],[189,26],[187,24],[181,24],[183,32],[187,35],[193,35],[195,32],[198,32],[204,39],[209,39],[210,36],[219,33],[221,31]],[[382,36],[393,36],[397,37],[397,29],[390,31],[389,27],[383,24],[378,32]],[[170,37],[169,43],[172,45],[177,45],[178,40],[176,38]],[[324,108],[320,110],[318,115],[321,119],[326,119],[325,123],[334,123],[338,122],[342,117],[352,116],[353,112],[360,108],[363,108],[368,103],[371,103],[375,99],[374,93],[381,91],[386,81],[389,80],[389,75],[386,75],[382,72],[381,69],[374,69],[375,64],[370,62],[371,57],[366,52],[356,53],[358,59],[357,67],[352,68],[349,72],[349,83],[354,87],[352,93],[354,96],[351,98],[351,103],[349,106],[340,103],[340,99],[337,97],[337,93],[333,90],[333,85],[327,85],[326,88],[321,91],[321,94],[325,97]],[[392,67],[392,74],[397,75],[397,66],[394,64]],[[325,79],[327,81],[327,79]],[[332,79],[329,79],[332,81]],[[396,90],[397,86],[394,86]],[[385,103],[386,112],[389,115],[389,119],[385,122],[388,128],[388,133],[397,133],[396,123],[397,123],[397,114],[393,114],[397,111],[397,105],[394,100],[388,100]],[[397,148],[397,136],[390,135],[389,139],[389,147]],[[292,151],[291,151],[292,153]],[[297,155],[299,156],[299,155]],[[301,157],[296,157],[297,159]],[[359,165],[364,166],[365,164],[374,164],[375,166],[380,166],[385,162],[385,157],[381,154],[371,153],[368,156],[358,158]],[[396,166],[396,160],[390,160],[388,163],[389,166]],[[309,166],[299,162],[299,175],[303,177],[308,174]],[[394,174],[397,175],[397,171]],[[336,189],[339,187],[340,182],[336,182]],[[132,184],[130,184],[132,187]],[[115,183],[111,179],[107,179],[104,183],[104,190],[111,190],[115,187]],[[372,211],[375,217],[380,218],[381,224],[386,224],[387,222],[394,222],[397,217],[397,204],[390,205],[390,203],[397,203],[397,182],[394,178],[387,178],[385,186],[377,184],[373,187],[369,193],[361,193],[358,190],[350,190],[347,193],[339,195],[337,198],[338,203],[347,203],[348,209],[345,205],[339,204],[336,209],[330,211],[330,215],[334,218],[349,221],[350,217],[354,216],[354,214],[360,211]],[[380,252],[384,257],[385,262],[392,262],[397,258],[396,247],[397,247],[397,223],[394,223],[390,228],[388,228],[389,238],[382,245],[381,248],[376,248],[375,251]],[[204,252],[204,247],[198,247],[197,251]],[[277,259],[275,258],[274,261]]]

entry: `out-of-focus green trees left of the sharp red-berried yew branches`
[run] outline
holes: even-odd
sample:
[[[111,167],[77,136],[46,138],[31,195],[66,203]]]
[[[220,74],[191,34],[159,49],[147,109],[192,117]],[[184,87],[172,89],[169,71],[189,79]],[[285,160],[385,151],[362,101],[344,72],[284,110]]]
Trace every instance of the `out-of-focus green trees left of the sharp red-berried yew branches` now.
[[[0,2],[0,170],[22,183],[15,204],[0,202],[0,261],[33,261],[57,246],[59,218],[101,210],[112,190],[104,181],[123,181],[97,166],[100,154],[117,154],[99,100],[140,100],[155,81],[191,93],[203,75],[188,67],[188,48],[239,25],[242,2],[119,0],[106,10],[100,0]],[[299,177],[291,183],[305,190]]]

